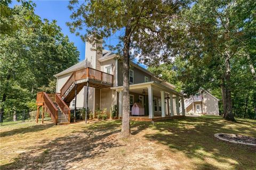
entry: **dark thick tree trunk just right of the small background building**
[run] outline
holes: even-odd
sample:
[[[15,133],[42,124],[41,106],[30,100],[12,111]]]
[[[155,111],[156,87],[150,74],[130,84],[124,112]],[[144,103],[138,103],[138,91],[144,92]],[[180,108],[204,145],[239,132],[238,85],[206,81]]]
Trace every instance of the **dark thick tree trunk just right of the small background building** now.
[[[235,121],[235,117],[232,111],[232,98],[231,98],[231,89],[230,89],[230,63],[229,55],[226,56],[225,60],[225,81],[226,81],[226,114],[225,119],[229,121]]]

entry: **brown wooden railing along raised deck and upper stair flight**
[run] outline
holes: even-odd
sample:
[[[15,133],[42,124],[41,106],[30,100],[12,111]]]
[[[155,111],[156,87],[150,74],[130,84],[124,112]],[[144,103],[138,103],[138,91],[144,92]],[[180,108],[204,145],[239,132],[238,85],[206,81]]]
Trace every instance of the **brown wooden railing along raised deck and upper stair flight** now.
[[[60,96],[62,97],[75,81],[86,78],[102,81],[109,84],[113,84],[114,81],[114,76],[112,74],[108,74],[99,70],[92,69],[90,67],[86,67],[84,69],[74,71],[70,75],[66,83],[60,89]]]

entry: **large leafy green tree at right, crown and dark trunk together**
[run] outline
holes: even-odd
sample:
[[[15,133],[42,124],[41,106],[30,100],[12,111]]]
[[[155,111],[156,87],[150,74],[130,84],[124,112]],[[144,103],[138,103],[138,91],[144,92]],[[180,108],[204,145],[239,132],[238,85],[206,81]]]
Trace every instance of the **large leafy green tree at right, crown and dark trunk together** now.
[[[255,77],[255,8],[255,1],[195,1],[182,11],[175,21],[177,31],[170,32],[167,40],[169,58],[183,60],[179,72],[185,92],[193,94],[205,84],[221,87],[226,120],[235,120],[231,95],[235,58],[246,58],[243,66],[250,65]]]

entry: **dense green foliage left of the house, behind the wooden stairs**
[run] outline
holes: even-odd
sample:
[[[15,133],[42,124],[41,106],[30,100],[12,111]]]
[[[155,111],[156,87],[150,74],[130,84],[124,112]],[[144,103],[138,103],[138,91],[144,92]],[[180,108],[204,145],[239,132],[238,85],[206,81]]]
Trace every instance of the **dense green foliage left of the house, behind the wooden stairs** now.
[[[3,2],[0,107],[33,110],[37,92],[55,92],[53,75],[77,63],[79,52],[61,33],[57,21],[42,21],[35,15],[34,4],[21,1],[10,8],[9,2]]]

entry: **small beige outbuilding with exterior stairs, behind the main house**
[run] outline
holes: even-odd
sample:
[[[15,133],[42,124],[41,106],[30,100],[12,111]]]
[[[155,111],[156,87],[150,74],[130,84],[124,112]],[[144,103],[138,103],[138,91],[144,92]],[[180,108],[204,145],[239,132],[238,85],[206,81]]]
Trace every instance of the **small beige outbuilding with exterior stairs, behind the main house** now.
[[[210,92],[199,89],[198,95],[185,99],[186,114],[190,115],[219,115],[219,99]]]

